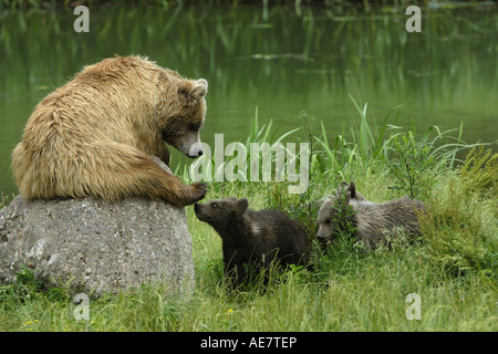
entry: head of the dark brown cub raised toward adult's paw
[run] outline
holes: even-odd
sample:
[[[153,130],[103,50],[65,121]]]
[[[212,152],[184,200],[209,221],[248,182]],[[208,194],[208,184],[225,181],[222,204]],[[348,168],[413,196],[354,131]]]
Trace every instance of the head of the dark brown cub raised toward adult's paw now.
[[[218,232],[226,230],[229,221],[245,214],[249,206],[246,198],[228,197],[211,199],[205,204],[195,204],[194,211],[200,221],[212,226]]]

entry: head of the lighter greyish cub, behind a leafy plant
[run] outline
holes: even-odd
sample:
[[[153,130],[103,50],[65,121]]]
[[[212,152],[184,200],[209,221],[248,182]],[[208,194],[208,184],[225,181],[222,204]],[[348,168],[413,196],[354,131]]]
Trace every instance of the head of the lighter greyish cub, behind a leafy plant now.
[[[335,192],[323,201],[318,214],[320,242],[332,242],[341,232],[354,227],[354,205],[366,199],[356,190],[354,183],[341,183]]]

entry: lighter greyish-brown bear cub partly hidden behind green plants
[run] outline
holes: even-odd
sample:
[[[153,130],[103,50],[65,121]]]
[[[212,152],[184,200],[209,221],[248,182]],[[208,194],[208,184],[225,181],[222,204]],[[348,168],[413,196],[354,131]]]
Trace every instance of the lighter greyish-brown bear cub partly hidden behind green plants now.
[[[335,195],[325,199],[319,210],[319,241],[332,242],[341,232],[353,230],[353,236],[374,246],[385,241],[387,235],[402,231],[408,237],[421,235],[417,212],[424,204],[416,199],[402,198],[386,202],[367,201],[354,183],[343,181]]]

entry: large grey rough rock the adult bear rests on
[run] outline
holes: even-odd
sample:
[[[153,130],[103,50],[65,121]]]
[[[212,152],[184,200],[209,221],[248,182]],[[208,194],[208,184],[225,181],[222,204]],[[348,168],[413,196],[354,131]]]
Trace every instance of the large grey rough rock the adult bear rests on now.
[[[0,282],[15,281],[22,264],[45,287],[93,296],[157,280],[186,292],[194,282],[185,209],[144,199],[15,197],[0,210]]]

